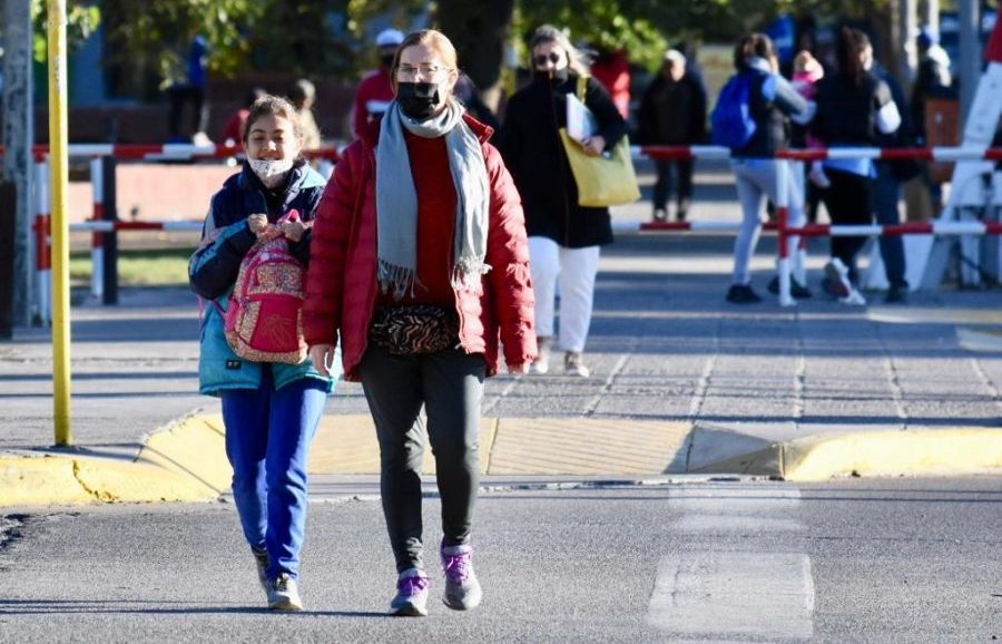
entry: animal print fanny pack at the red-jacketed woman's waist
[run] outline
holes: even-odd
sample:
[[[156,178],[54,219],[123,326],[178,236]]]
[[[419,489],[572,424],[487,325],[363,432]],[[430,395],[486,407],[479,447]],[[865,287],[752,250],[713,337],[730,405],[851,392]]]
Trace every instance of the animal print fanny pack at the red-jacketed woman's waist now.
[[[369,339],[394,355],[436,353],[459,345],[459,319],[433,304],[376,309]]]

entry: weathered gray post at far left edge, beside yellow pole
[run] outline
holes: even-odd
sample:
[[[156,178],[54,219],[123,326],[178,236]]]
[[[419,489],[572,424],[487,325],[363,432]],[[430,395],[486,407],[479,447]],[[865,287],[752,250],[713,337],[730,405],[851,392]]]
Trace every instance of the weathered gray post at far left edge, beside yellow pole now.
[[[3,0],[3,180],[13,184],[16,205],[13,240],[13,301],[11,320],[14,324],[31,321],[31,147],[35,115],[31,91],[31,3],[24,0]],[[3,306],[0,303],[0,306]]]

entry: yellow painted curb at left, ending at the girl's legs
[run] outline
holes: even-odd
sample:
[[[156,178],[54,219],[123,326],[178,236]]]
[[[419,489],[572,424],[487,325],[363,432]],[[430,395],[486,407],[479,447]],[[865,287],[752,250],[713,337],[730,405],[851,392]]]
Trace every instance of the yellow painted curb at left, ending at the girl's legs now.
[[[0,507],[207,501],[229,487],[223,433],[188,418],[153,435],[134,461],[55,453],[0,458]]]

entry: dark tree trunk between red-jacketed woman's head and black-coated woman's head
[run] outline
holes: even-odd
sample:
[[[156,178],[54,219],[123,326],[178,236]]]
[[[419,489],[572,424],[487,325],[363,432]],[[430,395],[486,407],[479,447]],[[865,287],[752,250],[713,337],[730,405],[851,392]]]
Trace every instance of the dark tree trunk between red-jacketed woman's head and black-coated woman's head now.
[[[484,103],[497,109],[501,68],[514,14],[514,0],[441,0],[435,22],[455,46],[460,69]]]

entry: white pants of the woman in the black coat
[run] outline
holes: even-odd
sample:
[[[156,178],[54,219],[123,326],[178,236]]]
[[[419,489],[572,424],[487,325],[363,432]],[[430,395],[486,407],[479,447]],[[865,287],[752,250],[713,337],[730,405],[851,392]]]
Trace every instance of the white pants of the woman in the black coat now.
[[[599,246],[564,248],[549,237],[529,237],[529,265],[536,292],[536,334],[553,336],[557,279],[560,279],[560,338],[563,351],[584,351],[591,325]]]

